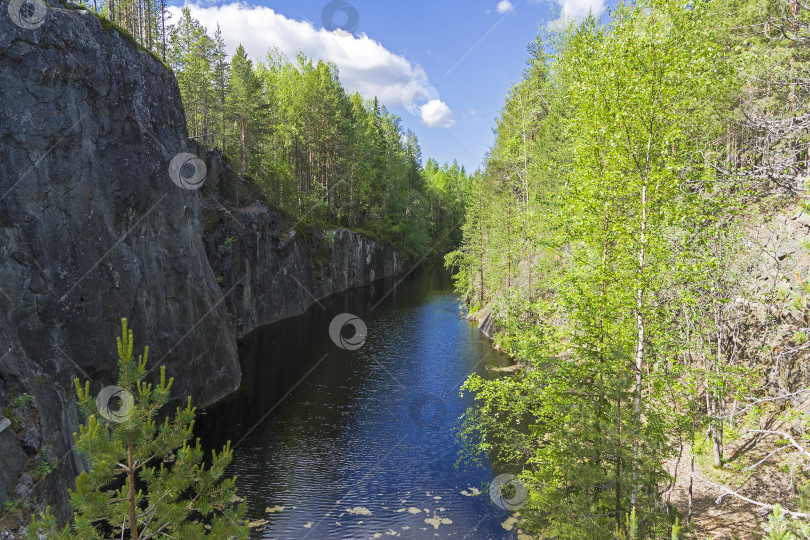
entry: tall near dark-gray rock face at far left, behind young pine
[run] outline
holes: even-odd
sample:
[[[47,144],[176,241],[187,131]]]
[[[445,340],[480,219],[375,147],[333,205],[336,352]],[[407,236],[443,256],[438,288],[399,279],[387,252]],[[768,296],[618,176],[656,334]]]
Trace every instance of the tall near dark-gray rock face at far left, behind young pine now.
[[[202,195],[167,172],[190,145],[174,77],[86,11],[48,8],[32,30],[5,15],[0,380],[9,400],[36,397],[39,425],[23,427],[21,446],[65,456],[33,486],[64,514],[81,467],[72,378],[114,384],[121,317],[197,404],[237,388],[240,369],[203,249]]]

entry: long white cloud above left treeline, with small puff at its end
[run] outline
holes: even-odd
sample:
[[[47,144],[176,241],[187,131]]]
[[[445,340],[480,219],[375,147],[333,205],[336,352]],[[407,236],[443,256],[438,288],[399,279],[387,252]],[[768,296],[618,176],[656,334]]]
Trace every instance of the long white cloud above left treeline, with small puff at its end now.
[[[206,0],[202,0],[206,1]],[[334,62],[340,71],[340,80],[349,92],[360,92],[363,97],[376,96],[389,108],[402,106],[402,95],[409,84],[425,84],[427,74],[418,64],[394,54],[365,34],[339,35],[323,28],[315,28],[309,21],[297,21],[264,6],[230,3],[220,6],[186,4],[191,16],[199,20],[213,34],[217,23],[232,55],[241,43],[254,61],[264,60],[271,47],[278,47],[288,58],[294,59],[298,51],[316,60]],[[172,20],[180,17],[180,8],[169,8]],[[362,20],[361,20],[362,24]],[[446,122],[453,113],[429,108],[431,118],[437,113]],[[424,114],[422,115],[424,120]],[[431,125],[433,122],[425,121]],[[439,122],[440,124],[442,122]]]

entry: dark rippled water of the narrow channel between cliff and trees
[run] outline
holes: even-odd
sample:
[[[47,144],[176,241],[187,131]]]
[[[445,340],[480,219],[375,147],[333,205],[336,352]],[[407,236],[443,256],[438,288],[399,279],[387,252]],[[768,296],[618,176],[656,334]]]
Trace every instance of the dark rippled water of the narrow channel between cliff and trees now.
[[[257,538],[512,537],[486,491],[501,471],[455,466],[470,404],[459,386],[506,360],[464,319],[443,270],[394,283],[255,331],[240,347],[242,388],[200,417],[206,446],[236,444],[249,518],[268,522]],[[330,339],[344,312],[368,328],[357,350]]]

